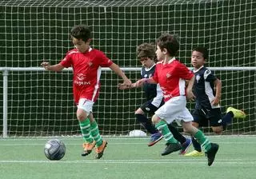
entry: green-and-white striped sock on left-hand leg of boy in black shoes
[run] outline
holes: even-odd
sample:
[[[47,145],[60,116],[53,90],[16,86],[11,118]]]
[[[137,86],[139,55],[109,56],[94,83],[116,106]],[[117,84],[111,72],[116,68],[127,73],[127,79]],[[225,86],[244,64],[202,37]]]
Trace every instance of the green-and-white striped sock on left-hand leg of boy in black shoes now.
[[[155,127],[159,131],[161,131],[167,143],[178,143],[178,141],[174,138],[173,134],[170,133],[170,129],[166,125],[165,121],[159,121],[157,124],[155,124]]]

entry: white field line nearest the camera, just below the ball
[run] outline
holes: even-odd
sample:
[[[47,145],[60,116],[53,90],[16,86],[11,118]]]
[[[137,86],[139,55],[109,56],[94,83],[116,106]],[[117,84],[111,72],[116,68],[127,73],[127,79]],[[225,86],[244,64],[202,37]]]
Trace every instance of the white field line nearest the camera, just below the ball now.
[[[170,159],[170,160],[76,160],[76,161],[0,161],[0,163],[22,163],[22,164],[30,164],[30,163],[46,163],[46,164],[204,164],[206,165],[206,159],[191,159],[191,160],[178,160],[178,159]],[[248,160],[237,160],[237,159],[218,159],[214,161],[215,165],[255,165],[256,161],[248,161]]]

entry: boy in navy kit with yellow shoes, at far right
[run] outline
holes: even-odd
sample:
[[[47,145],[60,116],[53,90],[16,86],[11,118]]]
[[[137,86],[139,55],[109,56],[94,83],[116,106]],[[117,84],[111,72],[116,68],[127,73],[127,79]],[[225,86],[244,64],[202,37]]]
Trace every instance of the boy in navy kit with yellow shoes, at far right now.
[[[204,64],[208,58],[208,50],[203,47],[196,47],[192,51],[191,64],[194,66],[195,76],[193,93],[195,95],[195,109],[192,113],[194,117],[193,125],[195,127],[210,126],[214,133],[222,133],[226,125],[232,121],[233,117],[245,118],[246,114],[242,110],[229,107],[226,115],[222,117],[219,101],[222,93],[222,82],[207,69]],[[198,141],[192,138],[194,151],[185,156],[202,156],[202,149]]]

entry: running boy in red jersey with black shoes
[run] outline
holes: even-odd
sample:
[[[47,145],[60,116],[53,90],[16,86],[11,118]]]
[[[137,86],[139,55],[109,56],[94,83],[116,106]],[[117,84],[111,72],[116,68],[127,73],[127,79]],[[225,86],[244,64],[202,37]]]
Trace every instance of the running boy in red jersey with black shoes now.
[[[202,145],[202,148],[206,150],[208,165],[210,166],[218,152],[218,145],[211,143],[201,130],[192,125],[193,117],[189,110],[186,109],[186,97],[189,100],[194,98],[192,93],[194,74],[175,58],[178,53],[179,43],[173,35],[162,34],[156,44],[156,55],[159,62],[156,65],[154,76],[138,80],[136,86],[142,86],[145,83],[158,83],[162,89],[165,104],[152,117],[154,125],[161,131],[167,142],[166,149],[162,152],[162,155],[167,155],[180,149],[178,141],[174,139],[167,126],[167,124],[176,120],[182,124],[184,131],[193,135]],[[188,81],[187,88],[186,80]]]

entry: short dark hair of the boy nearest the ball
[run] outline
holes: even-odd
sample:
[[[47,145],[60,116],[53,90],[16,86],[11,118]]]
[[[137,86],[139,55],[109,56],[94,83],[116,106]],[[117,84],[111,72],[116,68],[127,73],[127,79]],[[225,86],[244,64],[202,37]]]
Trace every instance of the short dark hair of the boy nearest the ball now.
[[[70,30],[70,35],[74,38],[82,39],[84,42],[91,38],[90,28],[86,25],[74,26]]]

